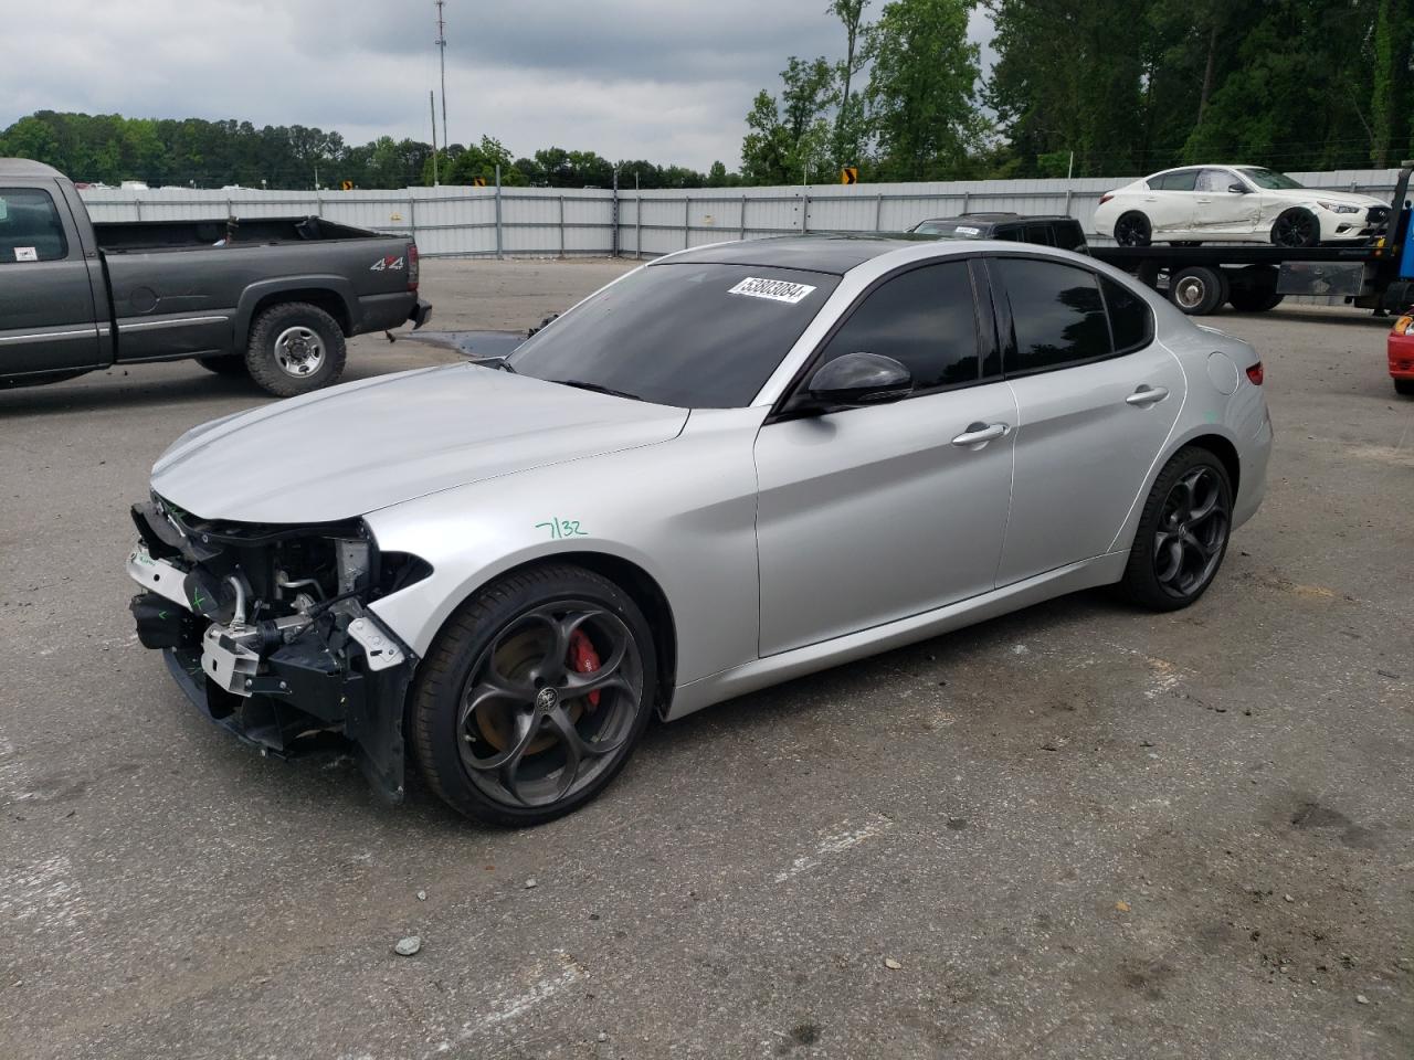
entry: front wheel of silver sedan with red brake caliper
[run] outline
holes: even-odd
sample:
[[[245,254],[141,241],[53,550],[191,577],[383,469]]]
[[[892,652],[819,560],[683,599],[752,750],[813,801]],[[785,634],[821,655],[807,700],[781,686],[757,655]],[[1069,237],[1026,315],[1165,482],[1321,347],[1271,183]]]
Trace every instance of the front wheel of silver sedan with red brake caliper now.
[[[588,661],[571,657],[581,633],[597,656]],[[598,700],[570,694],[595,680]],[[482,589],[437,635],[419,669],[410,742],[428,786],[457,811],[543,824],[618,775],[656,690],[653,636],[632,598],[580,567],[534,567]]]

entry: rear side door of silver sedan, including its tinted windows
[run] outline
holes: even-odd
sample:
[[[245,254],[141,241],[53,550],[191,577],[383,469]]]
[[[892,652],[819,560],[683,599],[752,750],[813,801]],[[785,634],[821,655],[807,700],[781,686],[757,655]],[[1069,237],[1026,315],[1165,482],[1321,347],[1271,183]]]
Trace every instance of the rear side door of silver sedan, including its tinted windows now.
[[[987,263],[1017,400],[997,584],[1102,555],[1145,489],[1186,383],[1135,291],[1056,260]]]

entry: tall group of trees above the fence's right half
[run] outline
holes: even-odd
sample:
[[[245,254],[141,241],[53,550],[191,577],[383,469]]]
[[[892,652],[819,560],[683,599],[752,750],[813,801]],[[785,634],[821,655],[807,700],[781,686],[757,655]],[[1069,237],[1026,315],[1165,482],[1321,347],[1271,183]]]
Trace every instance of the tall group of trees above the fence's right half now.
[[[1414,157],[1414,0],[831,0],[841,55],[792,57],[742,178],[1121,177],[1198,161]],[[814,177],[819,178],[819,177]]]

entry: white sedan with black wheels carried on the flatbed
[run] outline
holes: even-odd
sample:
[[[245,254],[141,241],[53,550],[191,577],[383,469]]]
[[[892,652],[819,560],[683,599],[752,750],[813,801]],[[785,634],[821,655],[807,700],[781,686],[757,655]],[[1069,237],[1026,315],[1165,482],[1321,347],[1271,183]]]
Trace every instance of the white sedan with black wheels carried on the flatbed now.
[[[1100,196],[1094,230],[1120,246],[1365,243],[1389,220],[1369,195],[1304,188],[1260,165],[1185,165]]]

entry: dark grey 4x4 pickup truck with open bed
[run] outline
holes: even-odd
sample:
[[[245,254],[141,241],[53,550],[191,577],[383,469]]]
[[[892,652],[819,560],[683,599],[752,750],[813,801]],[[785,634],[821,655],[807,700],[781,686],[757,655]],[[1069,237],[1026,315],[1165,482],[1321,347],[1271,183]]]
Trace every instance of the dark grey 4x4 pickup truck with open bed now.
[[[430,315],[409,239],[314,216],[95,225],[61,172],[0,158],[0,387],[194,358],[291,397],[338,380],[346,336]]]

